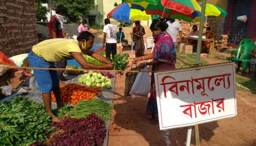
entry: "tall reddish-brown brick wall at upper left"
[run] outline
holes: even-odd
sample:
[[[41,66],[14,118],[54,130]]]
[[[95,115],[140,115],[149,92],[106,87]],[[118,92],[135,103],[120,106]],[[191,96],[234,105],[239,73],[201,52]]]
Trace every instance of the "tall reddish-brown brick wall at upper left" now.
[[[37,42],[35,0],[0,0],[0,50],[11,57]]]

